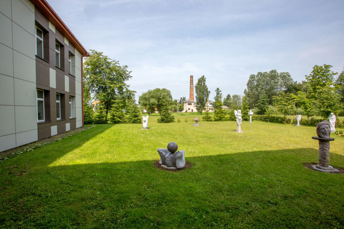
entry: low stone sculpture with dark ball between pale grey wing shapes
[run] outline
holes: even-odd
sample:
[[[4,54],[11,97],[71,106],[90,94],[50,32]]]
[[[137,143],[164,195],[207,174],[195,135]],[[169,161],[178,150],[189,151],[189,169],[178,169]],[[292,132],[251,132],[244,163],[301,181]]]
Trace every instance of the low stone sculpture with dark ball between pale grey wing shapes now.
[[[177,170],[185,167],[185,151],[177,151],[177,149],[178,145],[175,142],[168,143],[167,149],[158,149],[161,167],[168,170]]]

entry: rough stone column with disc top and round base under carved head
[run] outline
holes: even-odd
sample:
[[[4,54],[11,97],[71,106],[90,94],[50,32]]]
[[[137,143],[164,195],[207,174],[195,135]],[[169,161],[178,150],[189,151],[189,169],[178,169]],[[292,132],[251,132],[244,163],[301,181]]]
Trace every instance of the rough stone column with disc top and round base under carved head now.
[[[338,169],[329,165],[330,162],[330,141],[334,141],[334,138],[320,138],[312,137],[312,139],[319,141],[319,164],[313,165],[315,170],[323,171],[325,173],[338,173]]]

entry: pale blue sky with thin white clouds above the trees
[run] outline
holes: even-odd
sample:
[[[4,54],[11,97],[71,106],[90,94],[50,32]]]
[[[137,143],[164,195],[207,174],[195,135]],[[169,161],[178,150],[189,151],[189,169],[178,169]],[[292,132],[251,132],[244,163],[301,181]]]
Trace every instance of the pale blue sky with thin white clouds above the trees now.
[[[344,1],[47,0],[87,49],[127,65],[136,99],[167,88],[189,98],[204,75],[215,97],[243,95],[251,74],[305,80],[314,65],[344,67]]]

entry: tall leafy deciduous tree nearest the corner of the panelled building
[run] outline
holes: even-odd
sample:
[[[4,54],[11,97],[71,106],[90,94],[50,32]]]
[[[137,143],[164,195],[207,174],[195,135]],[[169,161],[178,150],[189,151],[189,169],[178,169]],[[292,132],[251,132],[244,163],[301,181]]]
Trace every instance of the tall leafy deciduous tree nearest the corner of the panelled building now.
[[[106,120],[114,101],[134,96],[135,92],[129,90],[129,85],[126,84],[131,78],[127,67],[120,66],[118,61],[95,50],[90,50],[90,56],[84,62],[85,84],[102,104]]]

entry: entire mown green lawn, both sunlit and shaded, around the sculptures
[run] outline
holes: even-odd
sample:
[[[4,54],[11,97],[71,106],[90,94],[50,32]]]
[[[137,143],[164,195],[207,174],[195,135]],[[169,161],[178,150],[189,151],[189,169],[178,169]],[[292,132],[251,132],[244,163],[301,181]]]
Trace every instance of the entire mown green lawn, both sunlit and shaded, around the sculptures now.
[[[236,122],[196,127],[196,116],[97,125],[0,163],[0,227],[344,227],[344,174],[303,166],[318,162],[315,127],[235,133]],[[331,137],[330,165],[344,168],[344,138]],[[192,167],[154,167],[171,141]]]

